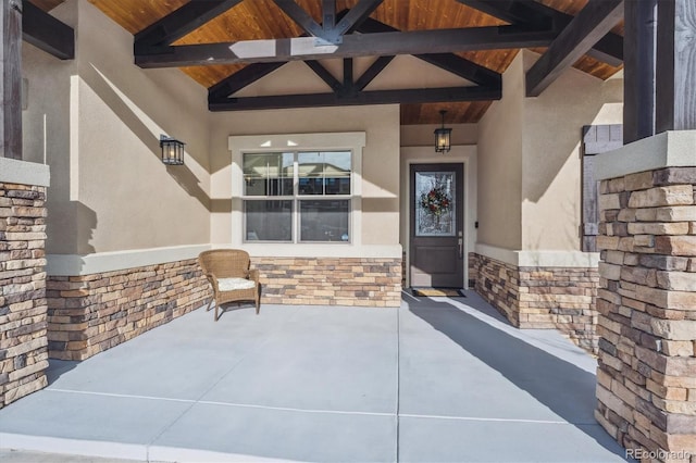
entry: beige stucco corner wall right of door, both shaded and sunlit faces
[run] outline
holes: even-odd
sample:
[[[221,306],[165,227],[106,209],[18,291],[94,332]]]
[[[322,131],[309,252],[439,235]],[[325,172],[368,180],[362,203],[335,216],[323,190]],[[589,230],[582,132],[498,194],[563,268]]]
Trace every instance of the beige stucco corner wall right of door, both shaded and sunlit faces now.
[[[622,122],[623,80],[566,71],[524,96],[523,50],[504,75],[502,100],[478,125],[478,242],[507,250],[579,251],[582,127]]]

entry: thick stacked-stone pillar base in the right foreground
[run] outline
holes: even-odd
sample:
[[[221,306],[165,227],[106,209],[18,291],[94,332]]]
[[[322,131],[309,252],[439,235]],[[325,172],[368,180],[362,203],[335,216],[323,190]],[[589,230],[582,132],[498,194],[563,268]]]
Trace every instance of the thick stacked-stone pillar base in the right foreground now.
[[[643,461],[696,462],[696,167],[601,182],[595,416]],[[635,453],[634,453],[635,454]]]

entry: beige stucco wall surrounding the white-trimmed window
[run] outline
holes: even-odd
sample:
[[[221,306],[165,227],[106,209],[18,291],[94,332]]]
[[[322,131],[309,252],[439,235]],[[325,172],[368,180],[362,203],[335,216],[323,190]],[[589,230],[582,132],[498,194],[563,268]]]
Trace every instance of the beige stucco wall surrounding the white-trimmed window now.
[[[362,153],[362,233],[364,246],[399,242],[399,107],[345,107],[212,113],[211,189],[213,245],[229,243],[232,209],[232,154],[228,136],[266,134],[364,132]],[[321,247],[316,248],[318,250]],[[316,250],[315,250],[316,252]],[[321,250],[318,251],[321,254]]]

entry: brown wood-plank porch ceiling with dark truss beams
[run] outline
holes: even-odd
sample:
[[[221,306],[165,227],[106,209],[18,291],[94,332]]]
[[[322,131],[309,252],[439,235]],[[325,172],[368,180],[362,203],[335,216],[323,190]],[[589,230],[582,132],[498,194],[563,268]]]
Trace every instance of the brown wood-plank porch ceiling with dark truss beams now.
[[[64,0],[29,1],[45,11],[50,11]],[[136,62],[139,65],[142,67],[179,67],[194,80],[209,88],[211,110],[400,102],[401,124],[405,125],[437,124],[440,121],[438,113],[440,109],[448,110],[448,124],[475,123],[485,114],[490,103],[499,98],[500,77],[498,74],[508,68],[521,48],[531,48],[539,53],[547,52],[546,47],[536,46],[539,40],[527,39],[530,30],[536,36],[545,34],[546,38],[540,41],[546,41],[545,45],[551,46],[548,49],[550,55],[548,58],[551,62],[575,53],[580,58],[573,66],[601,79],[610,77],[622,67],[623,23],[621,17],[617,16],[618,13],[614,11],[612,20],[609,20],[613,24],[601,26],[594,24],[593,20],[583,18],[581,14],[583,9],[587,8],[585,16],[592,16],[588,14],[592,13],[589,10],[596,9],[598,5],[601,8],[601,0],[192,0],[191,4],[188,4],[188,0],[88,1],[134,34]],[[619,3],[618,0],[613,1]],[[223,53],[213,60],[213,64],[198,65],[200,62],[196,62],[196,53],[212,53],[215,50],[213,43],[276,39],[278,40],[276,41],[276,50],[281,49],[279,46],[283,43],[290,46],[293,42],[288,39],[307,35],[308,32],[312,32],[312,27],[319,27],[313,30],[321,33],[324,17],[323,8],[332,12],[334,3],[338,20],[340,12],[351,10],[362,12],[363,16],[369,15],[369,18],[358,17],[353,27],[345,35],[340,32],[332,32],[331,28],[323,29],[328,36],[333,33],[344,39],[344,43],[338,48],[338,57],[349,60],[358,55],[372,55],[376,59],[380,55],[414,54],[431,64],[447,68],[477,84],[481,91],[471,91],[471,89],[461,91],[461,87],[456,87],[428,89],[427,92],[403,89],[365,92],[361,91],[362,88],[370,83],[370,77],[376,76],[382,68],[388,65],[388,58],[375,61],[375,64],[370,67],[369,73],[374,76],[356,76],[353,79],[352,72],[344,72],[341,79],[332,76],[322,66],[321,60],[311,61],[308,60],[309,57],[304,57],[301,59],[306,60],[312,71],[327,86],[332,87],[333,91],[328,90],[327,93],[312,96],[312,98],[298,99],[293,98],[297,96],[285,96],[287,98],[281,96],[253,101],[248,98],[233,100],[227,97],[277,68],[284,62],[296,60],[297,57],[290,54],[282,57],[278,54],[281,52],[276,51],[272,58],[258,55],[240,62],[239,60],[229,60],[227,55],[231,53],[227,51],[226,54]],[[188,7],[186,7],[187,4]],[[182,25],[181,21],[171,21],[172,13],[183,7],[184,9],[179,13],[186,8],[189,9],[188,13],[184,15],[184,23],[187,24],[183,28],[179,27],[178,30],[172,30],[175,28],[173,25]],[[214,13],[210,13],[211,10],[214,10]],[[290,15],[295,18],[291,18]],[[167,24],[167,20],[163,18],[170,20],[170,23]],[[574,18],[575,21],[571,21]],[[338,20],[336,23],[339,22]],[[582,24],[579,25],[579,23]],[[162,27],[158,30],[157,25],[164,26],[165,32],[162,33]],[[507,28],[505,30],[497,29],[495,33],[494,29],[484,29],[485,27],[490,28],[490,26],[507,26]],[[515,29],[510,26],[521,27]],[[613,29],[605,36],[607,27],[612,26]],[[570,30],[573,27],[576,30]],[[352,29],[359,34],[352,34]],[[444,35],[448,29],[460,30],[452,34],[450,39],[449,36]],[[462,46],[462,39],[459,38],[461,29],[468,29],[467,33],[471,35],[471,42],[465,46]],[[564,29],[567,30],[563,34]],[[412,36],[403,34],[394,36],[394,40],[387,39],[387,35],[380,36],[380,38],[374,35],[438,30],[443,35],[413,37],[412,40]],[[494,35],[484,35],[485,30],[490,30]],[[500,37],[507,33],[513,35],[513,40],[501,43]],[[568,33],[584,34],[581,39],[592,40],[593,45],[596,41],[594,38],[602,39],[604,46],[597,45],[594,50],[582,54],[585,51],[580,50],[579,47],[582,46],[573,45],[572,40],[563,38],[563,36],[573,35]],[[163,34],[166,37],[165,40],[161,39]],[[592,34],[595,34],[594,38]],[[406,40],[407,38],[408,40]],[[285,40],[283,41],[283,39]],[[353,41],[357,43],[351,45]],[[170,45],[174,47],[169,48]],[[353,47],[353,51],[350,51],[350,47]],[[433,54],[431,47],[438,47],[438,54]],[[173,62],[164,64],[157,62],[163,49],[176,50],[176,53],[172,53],[172,55],[176,54],[174,58],[166,57]],[[221,49],[225,50],[224,47]],[[344,49],[347,51],[341,52]],[[373,49],[374,52],[371,51]],[[613,52],[606,52],[606,50],[613,50]],[[335,57],[335,54],[332,55],[332,58]],[[347,61],[347,65],[350,66],[350,61]],[[243,70],[244,72],[241,72]],[[558,64],[546,72],[549,74],[558,73]],[[361,86],[362,88],[360,88]]]

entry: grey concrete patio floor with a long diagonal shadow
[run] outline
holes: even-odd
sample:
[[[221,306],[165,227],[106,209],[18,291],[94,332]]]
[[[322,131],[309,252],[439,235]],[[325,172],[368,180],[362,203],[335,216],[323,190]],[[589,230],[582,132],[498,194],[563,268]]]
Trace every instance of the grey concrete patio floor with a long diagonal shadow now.
[[[201,309],[87,361],[51,361],[48,388],[0,410],[0,448],[137,461],[624,461],[593,418],[595,364],[555,331],[510,327],[473,291],[405,292],[398,310],[240,308],[217,323]],[[36,455],[0,459],[23,454]]]

